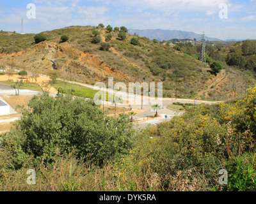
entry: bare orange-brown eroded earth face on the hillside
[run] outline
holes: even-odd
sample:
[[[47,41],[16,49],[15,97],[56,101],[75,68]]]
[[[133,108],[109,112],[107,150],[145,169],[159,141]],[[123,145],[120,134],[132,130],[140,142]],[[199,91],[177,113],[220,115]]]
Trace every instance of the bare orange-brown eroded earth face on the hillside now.
[[[93,55],[72,48],[68,43],[44,41],[24,51],[0,54],[0,60],[38,74],[57,69],[68,80],[86,83],[100,82],[106,77],[115,77],[120,81],[134,80]]]

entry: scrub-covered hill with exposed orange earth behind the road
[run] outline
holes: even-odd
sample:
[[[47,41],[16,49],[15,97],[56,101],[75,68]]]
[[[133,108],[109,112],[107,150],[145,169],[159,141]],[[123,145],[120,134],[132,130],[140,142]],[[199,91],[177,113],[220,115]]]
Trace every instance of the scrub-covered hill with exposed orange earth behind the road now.
[[[93,43],[93,31],[99,31],[99,43]],[[224,61],[221,73],[214,76],[209,64],[198,61],[199,45],[179,43],[182,48],[150,41],[131,34],[125,40],[118,31],[106,31],[102,27],[72,26],[43,32],[47,40],[35,44],[35,34],[0,32],[0,66],[26,69],[30,73],[47,74],[52,69],[62,78],[86,84],[95,84],[114,77],[115,82],[163,82],[164,97],[199,98],[221,100],[232,98],[232,86],[237,84],[237,96],[244,94],[243,84],[255,84],[251,72],[230,68],[225,64],[227,54],[220,54],[217,47],[207,46],[212,59],[220,55]],[[69,36],[60,42],[63,34]],[[108,40],[106,37],[111,34]],[[138,38],[140,45],[132,45],[131,39]],[[108,41],[108,42],[106,42]],[[108,51],[101,43],[109,43]],[[217,57],[214,53],[218,52]],[[221,59],[222,59],[221,58]]]

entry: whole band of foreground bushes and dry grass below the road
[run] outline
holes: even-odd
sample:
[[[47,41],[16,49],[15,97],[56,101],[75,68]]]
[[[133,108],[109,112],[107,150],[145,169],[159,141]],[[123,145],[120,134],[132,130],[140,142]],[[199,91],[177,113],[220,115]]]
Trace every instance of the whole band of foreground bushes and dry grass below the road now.
[[[256,87],[135,132],[92,101],[34,96],[1,135],[2,191],[255,191]],[[36,171],[28,185],[26,172]],[[220,185],[219,170],[228,172]]]

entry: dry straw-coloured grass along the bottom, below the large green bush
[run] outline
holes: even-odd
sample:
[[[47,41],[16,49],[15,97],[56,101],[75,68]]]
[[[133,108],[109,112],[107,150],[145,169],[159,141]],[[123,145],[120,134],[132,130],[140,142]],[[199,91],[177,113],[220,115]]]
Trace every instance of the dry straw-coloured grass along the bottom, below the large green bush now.
[[[33,167],[31,167],[33,169]],[[53,166],[36,170],[36,184],[28,185],[28,168],[18,171],[4,171],[1,191],[163,191],[163,183],[168,182],[168,191],[200,191],[202,180],[193,177],[191,171],[179,171],[175,177],[164,179],[150,168],[143,173],[127,172],[116,175],[113,163],[102,168],[77,161],[70,157],[60,159]]]

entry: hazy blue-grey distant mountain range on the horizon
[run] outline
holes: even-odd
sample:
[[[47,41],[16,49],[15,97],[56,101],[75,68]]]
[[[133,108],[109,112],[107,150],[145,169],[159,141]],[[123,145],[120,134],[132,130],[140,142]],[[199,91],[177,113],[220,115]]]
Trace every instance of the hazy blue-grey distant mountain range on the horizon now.
[[[145,30],[138,30],[138,29],[128,29],[129,34],[138,34],[140,37],[147,37],[150,40],[172,40],[172,39],[191,39],[193,40],[196,38],[196,40],[201,40],[201,35],[193,32],[188,31],[177,31],[177,30],[161,30],[161,29],[145,29]],[[208,36],[205,36],[205,40],[209,41],[223,41],[218,38],[209,38]],[[225,41],[242,41],[242,40],[225,40]]]

